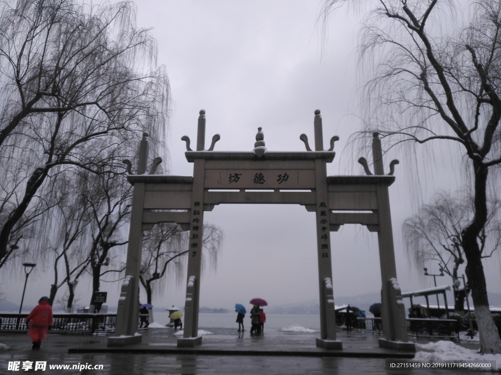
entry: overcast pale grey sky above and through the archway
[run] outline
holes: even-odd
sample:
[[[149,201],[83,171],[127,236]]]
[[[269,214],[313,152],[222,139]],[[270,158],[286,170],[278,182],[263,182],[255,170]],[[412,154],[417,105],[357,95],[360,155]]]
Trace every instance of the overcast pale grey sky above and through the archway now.
[[[369,153],[343,151],[348,136],[361,128],[356,46],[360,18],[346,9],[334,13],[322,36],[317,19],[320,1],[311,0],[140,0],[137,22],[153,27],[158,40],[158,62],[165,64],[172,88],[170,113],[170,173],[192,175],[184,157],[181,136],[196,139],[198,111],[206,110],[206,147],[213,134],[221,139],[216,150],[249,151],[258,126],[263,127],[269,150],[305,150],[299,139],[313,139],[314,110],[321,109],[324,142],[338,135],[329,174],[363,174],[356,162]],[[390,159],[385,160],[386,168]],[[401,239],[402,221],[412,215],[405,160],[396,167],[390,187],[397,274],[403,291],[433,286],[432,277],[409,266]],[[436,175],[450,166],[434,165]],[[443,169],[445,168],[445,169]],[[426,182],[422,198],[437,188],[456,189],[456,179]],[[319,298],[315,214],[302,206],[221,205],[205,213],[205,220],[224,229],[225,239],[217,271],[206,267],[200,304],[231,308],[262,297],[270,305]],[[378,292],[381,287],[376,233],[365,227],[345,226],[331,234],[335,297]],[[428,266],[438,273],[438,265]],[[500,292],[498,261],[486,265],[487,289]],[[50,279],[30,276],[32,287],[25,304],[48,294]],[[443,282],[442,282],[443,281]],[[7,299],[19,302],[24,277],[6,288]],[[450,279],[439,278],[440,284]],[[36,283],[37,287],[33,287]],[[81,282],[82,303],[90,295]],[[171,283],[157,306],[183,305],[185,280]],[[116,305],[118,284],[104,284],[109,305]],[[61,294],[64,291],[60,291]],[[145,298],[141,298],[145,300]]]

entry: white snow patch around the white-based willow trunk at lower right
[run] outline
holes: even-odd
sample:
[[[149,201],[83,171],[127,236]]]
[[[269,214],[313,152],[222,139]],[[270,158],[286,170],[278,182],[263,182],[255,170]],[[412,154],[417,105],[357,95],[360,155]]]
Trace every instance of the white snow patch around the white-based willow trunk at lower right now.
[[[452,341],[428,342],[427,344],[416,343],[416,347],[422,350],[432,350],[432,352],[418,351],[414,360],[423,360],[426,362],[439,360],[468,360],[475,362],[484,362],[494,360],[496,368],[492,371],[501,370],[501,354],[480,354],[476,350],[467,349],[459,346]],[[483,369],[485,370],[485,368]]]

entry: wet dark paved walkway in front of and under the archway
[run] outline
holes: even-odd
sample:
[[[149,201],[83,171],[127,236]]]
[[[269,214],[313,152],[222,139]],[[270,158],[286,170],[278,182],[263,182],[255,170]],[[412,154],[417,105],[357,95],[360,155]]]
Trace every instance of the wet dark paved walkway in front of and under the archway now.
[[[377,338],[364,332],[338,332],[345,355],[333,357],[331,350],[315,347],[318,333],[271,330],[264,336],[238,335],[230,328],[208,328],[202,345],[177,349],[171,328],[149,329],[143,342],[135,346],[108,348],[107,336],[50,335],[40,350],[31,350],[26,335],[3,334],[0,342],[10,346],[0,350],[0,373],[9,371],[12,361],[46,361],[43,373],[55,374],[437,374],[433,370],[386,370],[385,360],[396,354],[378,348]],[[422,341],[427,342],[427,341]],[[111,349],[111,350],[110,350]],[[192,350],[191,352],[189,350]],[[375,355],[377,354],[377,355]],[[103,369],[49,369],[54,364],[103,365]],[[33,372],[38,373],[40,370]],[[30,372],[30,371],[23,371]],[[467,371],[461,371],[467,373]],[[478,372],[475,372],[478,373]]]

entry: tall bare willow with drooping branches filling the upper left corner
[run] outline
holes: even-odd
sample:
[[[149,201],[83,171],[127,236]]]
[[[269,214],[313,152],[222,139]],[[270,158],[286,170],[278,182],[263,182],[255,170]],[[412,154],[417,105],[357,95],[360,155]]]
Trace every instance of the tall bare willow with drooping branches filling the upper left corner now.
[[[163,139],[168,79],[134,11],[130,1],[0,1],[0,266],[33,239],[52,177],[114,173],[138,133]],[[117,159],[117,147],[130,153]]]

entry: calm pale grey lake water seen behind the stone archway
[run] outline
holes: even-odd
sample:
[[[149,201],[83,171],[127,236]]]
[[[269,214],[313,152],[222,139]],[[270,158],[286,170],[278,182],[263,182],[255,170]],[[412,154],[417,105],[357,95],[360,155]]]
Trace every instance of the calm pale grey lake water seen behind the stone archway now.
[[[169,322],[168,311],[154,311],[154,321],[165,325]],[[184,321],[184,319],[182,319]],[[199,328],[238,328],[235,313],[199,313]],[[243,320],[245,329],[250,329],[250,314],[245,314]],[[266,314],[267,328],[282,329],[291,326],[301,326],[309,329],[320,330],[320,315],[315,314]]]

